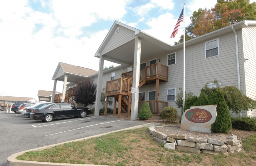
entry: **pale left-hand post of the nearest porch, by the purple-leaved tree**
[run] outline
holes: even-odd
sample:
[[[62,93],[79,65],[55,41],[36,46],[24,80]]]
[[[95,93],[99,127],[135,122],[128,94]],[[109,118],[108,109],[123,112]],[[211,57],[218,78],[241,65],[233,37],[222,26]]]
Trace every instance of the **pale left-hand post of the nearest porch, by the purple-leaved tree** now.
[[[100,115],[100,95],[101,95],[101,90],[102,90],[103,67],[104,67],[104,56],[100,55],[100,65],[99,65],[99,72],[98,72],[98,82],[97,82],[97,92],[96,92],[94,116]]]

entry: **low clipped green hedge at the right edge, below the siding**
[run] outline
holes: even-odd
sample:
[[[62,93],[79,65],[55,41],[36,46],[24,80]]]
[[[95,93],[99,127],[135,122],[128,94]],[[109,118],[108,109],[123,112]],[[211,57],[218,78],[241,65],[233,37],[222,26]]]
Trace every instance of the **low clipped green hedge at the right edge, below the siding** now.
[[[240,130],[256,131],[255,117],[232,117],[232,127]]]

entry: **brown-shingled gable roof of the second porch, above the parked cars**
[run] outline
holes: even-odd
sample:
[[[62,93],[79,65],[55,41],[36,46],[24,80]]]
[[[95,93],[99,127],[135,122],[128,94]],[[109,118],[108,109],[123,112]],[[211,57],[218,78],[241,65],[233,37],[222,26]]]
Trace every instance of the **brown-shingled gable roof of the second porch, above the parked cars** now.
[[[60,69],[63,70],[63,72],[60,76],[63,76],[64,74],[71,74],[74,76],[87,77],[92,74],[98,73],[98,71],[92,70],[90,68],[84,68],[84,67],[80,67],[80,66],[74,66],[72,64],[59,62],[58,66],[52,76],[52,80],[56,79],[57,73]]]

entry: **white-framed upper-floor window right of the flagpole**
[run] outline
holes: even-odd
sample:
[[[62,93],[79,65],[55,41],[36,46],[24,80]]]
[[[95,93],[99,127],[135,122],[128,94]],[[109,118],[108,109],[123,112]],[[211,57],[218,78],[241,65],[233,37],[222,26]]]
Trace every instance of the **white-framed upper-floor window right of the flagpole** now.
[[[205,57],[215,57],[219,55],[219,39],[205,42]]]

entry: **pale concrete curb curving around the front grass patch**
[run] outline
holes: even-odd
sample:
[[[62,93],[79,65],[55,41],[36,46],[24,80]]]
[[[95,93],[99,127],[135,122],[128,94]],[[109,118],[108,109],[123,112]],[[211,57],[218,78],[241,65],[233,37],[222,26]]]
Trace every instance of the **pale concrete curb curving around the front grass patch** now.
[[[94,135],[94,136],[90,136],[90,137],[85,137],[85,138],[81,138],[81,139],[75,139],[75,140],[72,140],[72,141],[66,141],[64,143],[83,141],[83,140],[87,140],[87,139],[91,139],[91,138],[95,138],[95,137],[100,137],[102,135],[107,135],[107,134],[110,134],[110,133],[116,133],[118,131],[138,129],[138,128],[142,128],[142,127],[150,127],[150,126],[157,126],[157,125],[161,125],[161,124],[160,123],[146,123],[144,125],[129,127],[129,128],[126,128],[126,129],[111,131],[111,132],[108,132],[108,133],[103,133],[103,134]],[[44,147],[40,147],[40,148],[34,148],[34,149],[25,150],[25,151],[22,151],[22,152],[12,154],[11,156],[9,156],[7,158],[7,166],[81,166],[81,165],[83,165],[83,166],[103,166],[103,165],[93,165],[93,164],[66,164],[66,163],[62,164],[62,163],[52,163],[52,162],[36,162],[36,161],[24,161],[24,160],[17,160],[16,159],[17,156],[20,156],[20,155],[24,154],[25,152],[44,150],[44,149],[52,148],[54,146],[62,145],[64,143],[48,145],[48,146],[44,146]]]

